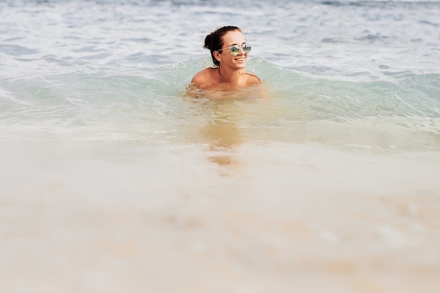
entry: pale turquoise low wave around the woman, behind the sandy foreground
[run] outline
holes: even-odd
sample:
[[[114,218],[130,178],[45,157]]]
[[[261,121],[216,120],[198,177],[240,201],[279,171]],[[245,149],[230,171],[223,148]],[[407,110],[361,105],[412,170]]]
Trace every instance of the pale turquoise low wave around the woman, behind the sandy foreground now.
[[[234,107],[238,116],[230,114],[231,123],[239,119],[237,127],[248,139],[439,149],[439,74],[404,73],[391,80],[365,74],[328,76],[284,69],[254,57],[250,70],[264,80],[269,99],[250,91],[243,93],[244,100],[225,105],[186,97],[188,81],[206,63],[209,60],[188,60],[136,72],[101,68],[103,72],[6,79],[1,135],[155,141],[172,133],[184,143],[195,125],[216,118],[210,107]]]

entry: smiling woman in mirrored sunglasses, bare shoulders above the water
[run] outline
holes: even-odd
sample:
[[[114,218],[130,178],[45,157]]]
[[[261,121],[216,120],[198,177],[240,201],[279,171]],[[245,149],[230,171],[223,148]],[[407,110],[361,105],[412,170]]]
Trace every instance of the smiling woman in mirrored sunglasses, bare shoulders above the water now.
[[[200,89],[224,86],[252,86],[260,83],[254,74],[246,72],[247,53],[251,46],[238,27],[221,27],[205,38],[205,46],[211,51],[214,67],[199,71],[191,83]]]

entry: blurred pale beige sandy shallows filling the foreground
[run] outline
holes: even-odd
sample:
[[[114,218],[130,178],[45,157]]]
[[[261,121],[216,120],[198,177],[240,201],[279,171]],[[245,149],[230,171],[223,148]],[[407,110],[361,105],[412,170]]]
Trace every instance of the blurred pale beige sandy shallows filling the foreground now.
[[[0,143],[0,292],[440,292],[440,154]]]

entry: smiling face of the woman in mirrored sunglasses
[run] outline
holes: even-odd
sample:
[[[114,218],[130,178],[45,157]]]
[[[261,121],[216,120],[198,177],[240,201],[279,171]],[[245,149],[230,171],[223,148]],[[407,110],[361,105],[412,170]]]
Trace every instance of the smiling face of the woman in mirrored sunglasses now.
[[[246,67],[247,53],[240,48],[240,52],[238,55],[233,56],[231,52],[229,52],[228,47],[233,45],[241,46],[243,43],[246,43],[245,36],[240,31],[231,31],[227,32],[223,36],[223,46],[221,47],[224,50],[216,51],[214,55],[216,60],[219,60],[222,67],[230,67],[231,69],[243,69]]]

